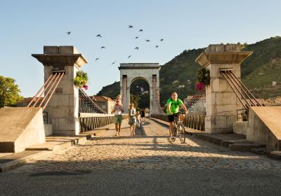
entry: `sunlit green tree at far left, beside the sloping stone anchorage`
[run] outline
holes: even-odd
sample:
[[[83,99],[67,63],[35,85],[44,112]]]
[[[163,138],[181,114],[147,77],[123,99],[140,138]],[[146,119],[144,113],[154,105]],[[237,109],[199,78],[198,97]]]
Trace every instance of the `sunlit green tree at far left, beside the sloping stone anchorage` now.
[[[15,106],[20,99],[22,97],[15,79],[0,76],[0,107]]]

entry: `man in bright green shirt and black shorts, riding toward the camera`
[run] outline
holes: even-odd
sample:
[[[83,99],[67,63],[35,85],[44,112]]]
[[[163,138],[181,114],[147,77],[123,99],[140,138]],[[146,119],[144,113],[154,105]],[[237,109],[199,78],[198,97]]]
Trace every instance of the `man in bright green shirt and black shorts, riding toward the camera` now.
[[[179,106],[181,106],[185,113],[188,113],[188,109],[186,109],[185,105],[181,101],[181,99],[178,99],[178,94],[176,92],[173,92],[171,94],[171,98],[168,99],[167,101],[167,109],[166,109],[166,114],[168,116],[168,121],[170,123],[170,136],[171,139],[175,139],[174,137],[174,118],[175,116],[178,116],[178,109]]]

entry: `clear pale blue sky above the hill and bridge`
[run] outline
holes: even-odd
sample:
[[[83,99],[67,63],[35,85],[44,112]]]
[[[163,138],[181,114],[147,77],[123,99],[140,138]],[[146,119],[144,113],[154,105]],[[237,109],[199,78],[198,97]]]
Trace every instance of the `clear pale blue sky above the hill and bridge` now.
[[[119,63],[164,64],[185,49],[212,43],[255,43],[281,35],[281,1],[277,0],[0,3],[0,75],[15,78],[24,97],[34,96],[43,84],[43,66],[31,54],[42,53],[44,45],[77,47],[89,61],[82,70],[89,74],[91,95],[119,81]],[[66,31],[72,33],[68,36]],[[161,43],[160,38],[164,38]],[[106,48],[100,49],[103,45]],[[140,50],[134,49],[137,46]],[[112,65],[115,61],[117,65]]]

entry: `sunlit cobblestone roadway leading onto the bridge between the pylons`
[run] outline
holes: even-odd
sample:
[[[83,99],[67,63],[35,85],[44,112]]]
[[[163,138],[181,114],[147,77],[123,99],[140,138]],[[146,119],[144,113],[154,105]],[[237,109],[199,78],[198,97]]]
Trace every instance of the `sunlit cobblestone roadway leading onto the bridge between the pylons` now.
[[[121,137],[108,130],[88,141],[36,160],[11,172],[77,171],[100,169],[244,169],[281,171],[281,162],[263,155],[229,151],[207,141],[188,137],[171,143],[166,127],[147,120],[136,137],[122,125]]]

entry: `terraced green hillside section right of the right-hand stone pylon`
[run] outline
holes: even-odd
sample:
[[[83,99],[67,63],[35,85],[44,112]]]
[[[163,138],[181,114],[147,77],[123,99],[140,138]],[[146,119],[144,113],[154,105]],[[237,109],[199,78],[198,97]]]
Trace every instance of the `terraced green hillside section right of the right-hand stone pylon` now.
[[[241,65],[242,81],[258,98],[281,95],[281,37],[247,45],[254,51]],[[273,81],[277,82],[273,87]]]

